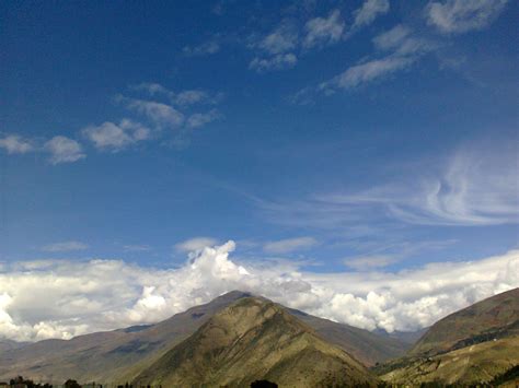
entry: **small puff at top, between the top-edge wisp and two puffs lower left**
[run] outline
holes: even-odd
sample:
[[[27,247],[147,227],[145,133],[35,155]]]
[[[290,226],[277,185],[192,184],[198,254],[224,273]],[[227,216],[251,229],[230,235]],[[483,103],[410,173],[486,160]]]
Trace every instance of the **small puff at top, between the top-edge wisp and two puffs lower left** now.
[[[304,37],[303,46],[310,48],[336,43],[343,36],[344,26],[345,24],[338,10],[332,11],[327,19],[312,19],[304,26],[307,36]]]

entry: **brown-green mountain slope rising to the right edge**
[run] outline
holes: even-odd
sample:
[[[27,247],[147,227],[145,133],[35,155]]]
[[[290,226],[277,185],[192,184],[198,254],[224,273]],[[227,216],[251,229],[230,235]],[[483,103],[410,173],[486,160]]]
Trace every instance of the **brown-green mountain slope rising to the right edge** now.
[[[519,365],[519,289],[451,314],[399,360],[374,369],[390,384],[489,384]]]

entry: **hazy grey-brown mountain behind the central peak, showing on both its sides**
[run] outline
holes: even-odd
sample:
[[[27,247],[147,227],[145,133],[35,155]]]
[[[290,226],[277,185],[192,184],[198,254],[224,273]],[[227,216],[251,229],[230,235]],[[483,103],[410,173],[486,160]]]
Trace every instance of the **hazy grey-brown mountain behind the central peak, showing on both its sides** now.
[[[71,340],[45,340],[10,352],[0,352],[0,379],[15,375],[50,383],[62,383],[67,378],[80,381],[132,379],[142,368],[152,365],[165,352],[192,336],[215,314],[250,296],[250,293],[234,291],[155,325],[96,332]],[[367,330],[295,309],[287,311],[367,366],[400,356],[408,348],[397,340]]]

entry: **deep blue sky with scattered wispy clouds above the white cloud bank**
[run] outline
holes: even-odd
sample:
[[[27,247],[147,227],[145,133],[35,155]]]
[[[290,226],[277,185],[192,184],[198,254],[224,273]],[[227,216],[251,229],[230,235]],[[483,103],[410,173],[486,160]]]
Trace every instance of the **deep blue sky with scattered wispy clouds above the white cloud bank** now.
[[[518,11],[2,1],[0,258],[163,267],[234,239],[344,271],[517,248]]]

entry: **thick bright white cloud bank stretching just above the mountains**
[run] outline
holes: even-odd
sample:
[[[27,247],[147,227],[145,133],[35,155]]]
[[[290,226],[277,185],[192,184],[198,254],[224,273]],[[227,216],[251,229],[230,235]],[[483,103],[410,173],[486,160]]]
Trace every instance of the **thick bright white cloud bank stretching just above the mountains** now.
[[[70,338],[154,322],[232,290],[370,330],[413,330],[519,286],[519,250],[396,273],[311,273],[286,262],[240,264],[233,249],[207,247],[169,270],[122,260],[12,264],[0,274],[0,336]]]

